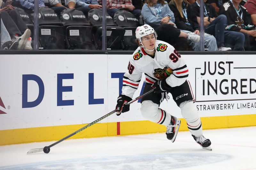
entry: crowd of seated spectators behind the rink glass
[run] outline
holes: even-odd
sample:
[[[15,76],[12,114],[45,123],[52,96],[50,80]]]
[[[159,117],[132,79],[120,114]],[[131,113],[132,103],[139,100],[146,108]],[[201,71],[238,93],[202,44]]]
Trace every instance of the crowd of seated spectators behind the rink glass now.
[[[1,49],[32,50],[34,0],[0,0]],[[76,9],[88,17],[92,9],[102,9],[102,0],[38,0],[39,7],[51,8],[58,16]],[[107,0],[107,13],[131,12],[140,24],[152,26],[158,40],[177,50],[200,50],[200,8],[204,8],[204,47],[208,51],[256,50],[255,0]],[[20,12],[23,10],[28,15]],[[24,17],[25,16],[25,17]]]

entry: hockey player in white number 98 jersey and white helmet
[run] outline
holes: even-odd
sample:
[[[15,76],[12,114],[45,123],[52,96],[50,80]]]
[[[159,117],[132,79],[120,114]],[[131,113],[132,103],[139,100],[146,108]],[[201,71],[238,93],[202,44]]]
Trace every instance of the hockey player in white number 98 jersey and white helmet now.
[[[143,93],[152,88],[155,90],[141,99],[142,116],[152,122],[165,125],[167,139],[174,142],[180,120],[159,108],[166,96],[169,99],[167,93],[170,92],[173,100],[180,107],[193,138],[204,149],[212,150],[211,141],[203,136],[201,120],[187,80],[188,67],[185,61],[170,44],[156,40],[156,32],[151,26],[146,24],[139,26],[135,34],[139,47],[132,54],[128,70],[124,74],[122,94],[117,98],[116,115],[130,110],[130,105],[126,103],[132,100],[144,73],[146,85]]]

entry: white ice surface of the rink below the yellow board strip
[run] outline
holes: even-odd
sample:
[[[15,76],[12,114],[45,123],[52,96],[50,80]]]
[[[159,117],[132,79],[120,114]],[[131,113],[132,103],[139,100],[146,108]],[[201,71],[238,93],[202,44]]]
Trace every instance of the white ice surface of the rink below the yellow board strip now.
[[[196,144],[190,132],[176,141],[164,133],[65,140],[50,153],[27,155],[52,142],[0,146],[0,169],[90,170],[256,170],[256,126],[204,130],[212,151]]]

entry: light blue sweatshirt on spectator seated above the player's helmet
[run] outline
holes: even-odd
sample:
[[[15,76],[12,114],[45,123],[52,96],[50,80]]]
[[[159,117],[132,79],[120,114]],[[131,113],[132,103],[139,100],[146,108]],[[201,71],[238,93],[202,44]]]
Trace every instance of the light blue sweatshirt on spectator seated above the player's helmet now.
[[[144,4],[141,10],[141,15],[145,21],[145,24],[148,24],[152,27],[157,27],[161,25],[161,19],[169,16],[171,19],[169,22],[175,22],[174,14],[170,10],[167,2],[164,5],[157,3],[154,6],[148,6],[148,4]]]

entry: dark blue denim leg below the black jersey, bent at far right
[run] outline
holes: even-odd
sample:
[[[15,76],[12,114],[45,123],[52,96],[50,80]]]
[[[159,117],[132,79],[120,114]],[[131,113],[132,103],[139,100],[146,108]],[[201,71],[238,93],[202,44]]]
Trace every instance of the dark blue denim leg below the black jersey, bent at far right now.
[[[243,51],[245,36],[236,31],[224,31],[225,47],[230,47],[232,51]]]

